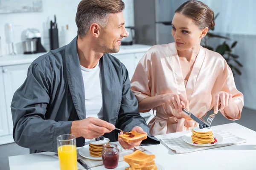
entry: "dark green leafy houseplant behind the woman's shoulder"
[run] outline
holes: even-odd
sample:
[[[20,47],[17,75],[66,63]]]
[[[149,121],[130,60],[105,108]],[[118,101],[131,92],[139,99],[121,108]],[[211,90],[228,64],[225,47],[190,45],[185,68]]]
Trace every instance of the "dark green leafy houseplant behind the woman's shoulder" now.
[[[218,15],[219,13],[215,15],[214,20],[218,17]],[[207,41],[210,38],[215,37],[215,38],[222,38],[225,40],[230,40],[230,38],[223,37],[218,34],[213,34],[211,33],[211,30],[213,31],[214,27],[212,27],[208,31],[207,35],[205,36],[204,45],[202,46],[204,48],[207,48],[209,50],[212,50],[221,54],[224,57],[224,59],[227,61],[227,64],[230,66],[234,76],[235,76],[235,73],[241,75],[241,71],[239,70],[239,68],[243,67],[243,65],[241,64],[241,62],[238,61],[239,56],[232,53],[233,48],[236,47],[237,41],[233,42],[231,46],[229,46],[227,42],[224,41],[222,44],[218,45],[216,49],[213,49],[211,46],[207,45]]]

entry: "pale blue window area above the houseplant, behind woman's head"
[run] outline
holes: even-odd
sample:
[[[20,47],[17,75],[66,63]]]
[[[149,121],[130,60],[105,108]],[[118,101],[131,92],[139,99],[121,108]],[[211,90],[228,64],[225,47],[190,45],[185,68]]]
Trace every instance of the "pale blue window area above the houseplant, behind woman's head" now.
[[[256,35],[256,0],[201,0],[215,14],[215,32]]]

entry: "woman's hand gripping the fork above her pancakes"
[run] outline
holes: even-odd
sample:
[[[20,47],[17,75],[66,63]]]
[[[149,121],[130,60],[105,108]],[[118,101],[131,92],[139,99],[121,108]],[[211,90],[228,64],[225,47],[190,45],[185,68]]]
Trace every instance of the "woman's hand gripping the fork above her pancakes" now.
[[[229,94],[225,91],[220,91],[215,95],[215,103],[214,103],[214,113],[218,113],[218,106],[221,105],[220,110],[224,110],[225,107],[228,106],[229,102],[232,99],[232,94]]]

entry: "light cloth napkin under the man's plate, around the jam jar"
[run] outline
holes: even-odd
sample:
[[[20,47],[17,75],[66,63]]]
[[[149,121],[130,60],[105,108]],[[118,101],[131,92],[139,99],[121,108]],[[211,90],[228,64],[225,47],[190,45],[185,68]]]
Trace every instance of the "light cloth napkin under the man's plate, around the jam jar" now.
[[[120,145],[119,142],[111,142],[111,143]],[[77,150],[77,152],[79,152],[79,151]],[[133,153],[133,152],[134,152],[133,150],[124,150],[123,149],[122,152],[119,153],[119,161],[124,161],[123,157],[125,155],[128,155],[128,154]],[[103,161],[102,160],[92,160],[92,159],[84,158],[82,156],[79,156],[79,159],[84,164],[87,164],[87,166],[89,166],[90,168],[103,165]]]

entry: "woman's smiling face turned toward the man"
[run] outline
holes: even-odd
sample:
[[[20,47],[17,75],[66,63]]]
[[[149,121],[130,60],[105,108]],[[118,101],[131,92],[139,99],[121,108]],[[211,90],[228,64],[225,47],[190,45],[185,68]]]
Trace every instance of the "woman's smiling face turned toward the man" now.
[[[207,30],[206,30],[207,29]],[[172,36],[177,50],[188,50],[200,45],[201,39],[207,34],[208,28],[201,30],[193,20],[183,14],[175,13],[172,20]]]

